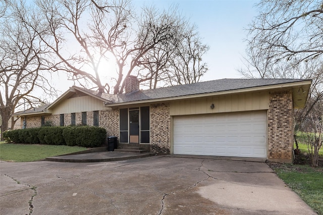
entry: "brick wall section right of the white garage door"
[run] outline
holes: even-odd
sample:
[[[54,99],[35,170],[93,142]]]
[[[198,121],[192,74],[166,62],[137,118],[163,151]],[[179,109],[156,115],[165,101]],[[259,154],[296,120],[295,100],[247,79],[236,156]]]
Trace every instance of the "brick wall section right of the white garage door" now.
[[[292,162],[294,108],[292,91],[269,93],[268,160]]]

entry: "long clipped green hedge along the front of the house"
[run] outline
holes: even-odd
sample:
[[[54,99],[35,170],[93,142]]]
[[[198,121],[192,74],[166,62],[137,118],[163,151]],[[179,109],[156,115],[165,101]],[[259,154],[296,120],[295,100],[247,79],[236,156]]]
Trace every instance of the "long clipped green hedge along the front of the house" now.
[[[80,147],[100,147],[106,138],[106,130],[94,126],[50,126],[8,130],[4,132],[8,142],[16,144],[46,144]]]

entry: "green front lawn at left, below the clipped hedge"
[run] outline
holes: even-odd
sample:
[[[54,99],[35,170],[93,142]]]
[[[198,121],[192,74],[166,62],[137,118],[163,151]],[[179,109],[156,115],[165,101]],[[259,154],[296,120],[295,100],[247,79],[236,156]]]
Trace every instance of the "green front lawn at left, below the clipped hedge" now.
[[[0,160],[10,162],[41,161],[46,157],[84,151],[84,147],[7,144],[0,141]]]

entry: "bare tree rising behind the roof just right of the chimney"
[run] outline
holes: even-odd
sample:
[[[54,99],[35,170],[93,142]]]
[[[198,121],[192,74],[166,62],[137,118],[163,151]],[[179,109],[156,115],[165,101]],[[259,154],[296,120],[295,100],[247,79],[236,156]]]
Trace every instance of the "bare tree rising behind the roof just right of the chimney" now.
[[[202,63],[202,55],[209,49],[202,44],[196,27],[177,14],[176,8],[167,13],[164,11],[159,18],[151,10],[149,26],[163,26],[173,23],[170,29],[171,35],[162,43],[154,45],[138,61],[139,76],[142,82],[151,88],[156,88],[157,83],[161,86],[172,86],[198,82],[200,77],[207,71],[206,63]],[[158,19],[155,19],[158,17]],[[145,24],[142,28],[147,28]],[[157,32],[158,33],[158,32]]]

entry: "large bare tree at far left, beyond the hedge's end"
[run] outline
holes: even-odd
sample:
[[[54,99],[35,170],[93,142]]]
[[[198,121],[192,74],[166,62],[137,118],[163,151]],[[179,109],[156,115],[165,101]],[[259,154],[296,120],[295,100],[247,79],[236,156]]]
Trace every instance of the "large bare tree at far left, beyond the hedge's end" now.
[[[6,7],[0,17],[0,128],[3,134],[10,119],[11,128],[14,127],[16,121],[11,116],[16,108],[25,102],[29,106],[42,103],[38,96],[32,95],[35,89],[50,94],[51,88],[42,74],[42,70],[48,68],[43,66],[48,65],[44,58],[48,51],[37,33],[22,22],[28,19],[24,15],[31,9],[19,1],[0,4],[0,8]],[[37,22],[36,17],[33,19]]]

